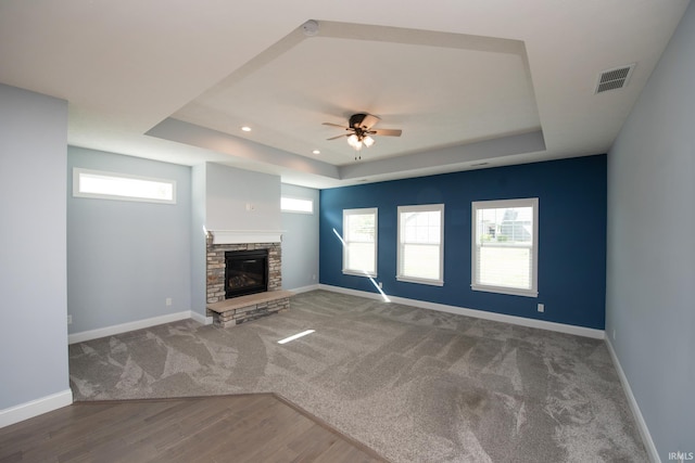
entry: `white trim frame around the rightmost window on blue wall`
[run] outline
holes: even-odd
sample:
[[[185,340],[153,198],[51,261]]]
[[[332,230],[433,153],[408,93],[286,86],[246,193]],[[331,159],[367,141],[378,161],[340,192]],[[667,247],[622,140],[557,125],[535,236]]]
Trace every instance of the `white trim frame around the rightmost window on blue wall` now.
[[[484,285],[475,282],[476,262],[478,261],[478,242],[477,211],[478,209],[496,209],[504,207],[533,207],[533,246],[532,246],[532,267],[531,267],[531,288],[522,290],[507,286]],[[500,200],[500,201],[477,201],[471,204],[471,254],[470,254],[470,287],[473,291],[482,291],[488,293],[509,294],[514,296],[539,296],[539,198],[529,197],[520,200]]]

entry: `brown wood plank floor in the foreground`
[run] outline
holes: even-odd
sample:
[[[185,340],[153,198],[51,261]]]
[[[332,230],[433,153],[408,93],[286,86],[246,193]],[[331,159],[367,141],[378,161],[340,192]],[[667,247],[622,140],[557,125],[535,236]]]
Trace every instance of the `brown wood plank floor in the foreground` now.
[[[0,429],[0,462],[386,462],[274,394],[76,402]]]

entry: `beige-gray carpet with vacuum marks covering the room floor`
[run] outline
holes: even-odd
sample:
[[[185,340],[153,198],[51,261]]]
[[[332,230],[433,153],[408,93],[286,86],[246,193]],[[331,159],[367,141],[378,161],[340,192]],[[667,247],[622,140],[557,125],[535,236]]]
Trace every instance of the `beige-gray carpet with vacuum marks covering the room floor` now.
[[[394,462],[648,461],[604,342],[324,291],[232,329],[75,344],[70,362],[76,400],[274,391]]]

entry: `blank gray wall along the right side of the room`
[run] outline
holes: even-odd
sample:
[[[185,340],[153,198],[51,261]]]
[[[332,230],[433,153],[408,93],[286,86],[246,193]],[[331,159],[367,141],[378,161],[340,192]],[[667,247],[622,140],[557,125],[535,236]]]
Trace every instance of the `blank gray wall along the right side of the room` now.
[[[662,461],[695,452],[694,50],[691,3],[608,154],[606,333]]]

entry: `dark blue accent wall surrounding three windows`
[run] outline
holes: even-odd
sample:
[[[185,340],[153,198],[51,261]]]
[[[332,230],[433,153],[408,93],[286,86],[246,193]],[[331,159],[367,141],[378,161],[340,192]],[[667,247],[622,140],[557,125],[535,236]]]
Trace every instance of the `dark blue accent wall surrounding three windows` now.
[[[376,281],[391,296],[603,330],[606,297],[606,155],[323,190],[321,284],[376,292],[342,273],[342,210],[377,207]],[[539,297],[470,288],[471,202],[539,198]],[[444,286],[399,282],[396,209],[444,204]],[[536,310],[545,305],[545,312]]]

